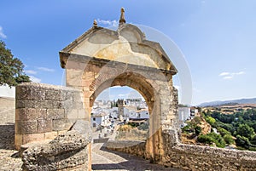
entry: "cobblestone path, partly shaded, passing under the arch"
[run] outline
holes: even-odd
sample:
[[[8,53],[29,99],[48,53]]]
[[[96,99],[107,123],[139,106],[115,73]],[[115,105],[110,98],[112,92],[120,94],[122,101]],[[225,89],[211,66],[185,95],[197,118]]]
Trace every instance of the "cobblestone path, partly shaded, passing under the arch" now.
[[[143,170],[169,170],[182,171],[177,168],[166,168],[157,164],[149,163],[140,157],[135,157],[117,151],[108,151],[102,144],[92,144],[92,169],[95,171],[143,171]]]

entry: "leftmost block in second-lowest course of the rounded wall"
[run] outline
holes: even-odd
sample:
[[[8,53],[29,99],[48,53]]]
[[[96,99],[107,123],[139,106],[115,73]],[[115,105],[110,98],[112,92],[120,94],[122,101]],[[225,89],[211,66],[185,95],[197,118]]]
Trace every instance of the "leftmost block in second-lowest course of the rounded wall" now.
[[[38,133],[37,120],[15,121],[15,134],[35,134]]]

